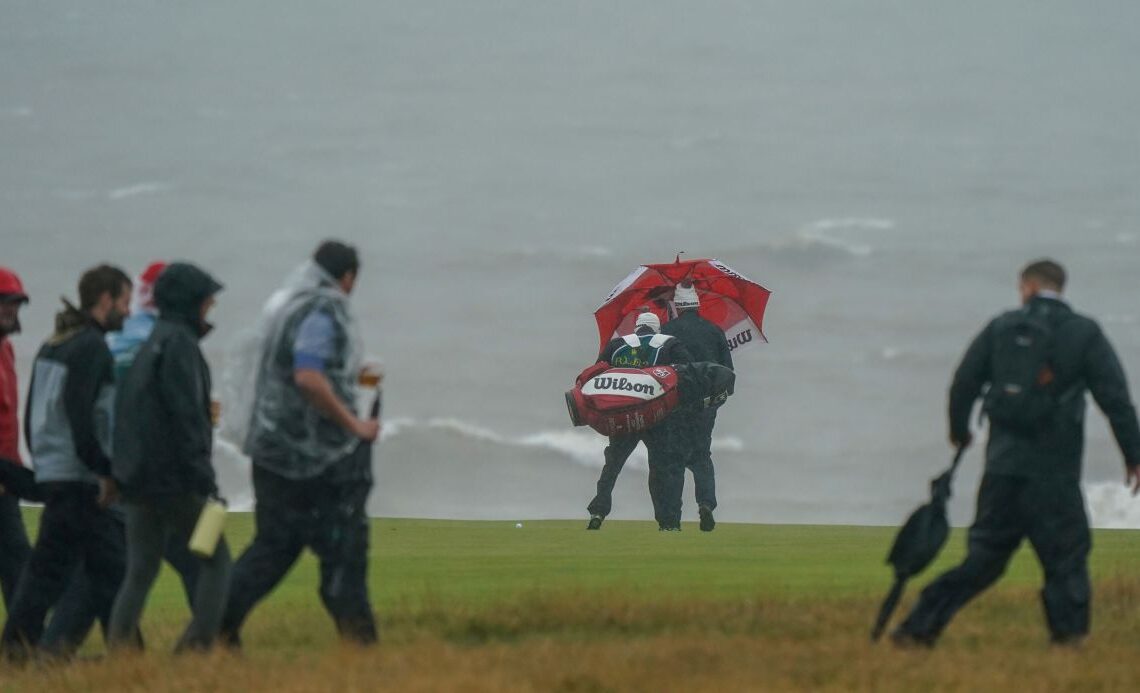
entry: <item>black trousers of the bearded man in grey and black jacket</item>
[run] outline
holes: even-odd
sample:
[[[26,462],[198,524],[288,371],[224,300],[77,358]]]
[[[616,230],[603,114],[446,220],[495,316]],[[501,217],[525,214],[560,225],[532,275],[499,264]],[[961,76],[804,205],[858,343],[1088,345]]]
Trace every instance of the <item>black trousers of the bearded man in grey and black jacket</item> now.
[[[55,482],[44,491],[40,533],[8,610],[0,646],[22,659],[39,645],[43,620],[82,564],[98,618],[107,622],[127,570],[123,528],[96,504],[93,484]]]

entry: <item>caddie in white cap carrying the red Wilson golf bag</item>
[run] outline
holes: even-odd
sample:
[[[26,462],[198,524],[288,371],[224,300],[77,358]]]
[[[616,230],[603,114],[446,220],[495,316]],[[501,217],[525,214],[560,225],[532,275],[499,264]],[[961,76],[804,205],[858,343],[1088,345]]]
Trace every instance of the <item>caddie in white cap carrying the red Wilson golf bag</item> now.
[[[611,340],[597,360],[616,368],[645,368],[658,364],[690,362],[692,359],[685,346],[678,340],[658,334],[660,331],[661,320],[652,312],[643,312],[637,316],[634,333]],[[681,529],[679,505],[674,517],[666,509],[663,502],[674,492],[679,497],[681,490],[677,487],[678,484],[683,487],[685,481],[684,467],[681,466],[676,455],[671,454],[668,431],[671,418],[642,434],[610,438],[610,445],[605,447],[604,453],[605,464],[597,479],[597,495],[586,506],[589,512],[589,524],[586,529],[601,529],[602,521],[610,514],[613,484],[617,483],[621,467],[640,441],[645,441],[645,448],[649,450],[649,492],[653,500],[653,516],[662,530]]]

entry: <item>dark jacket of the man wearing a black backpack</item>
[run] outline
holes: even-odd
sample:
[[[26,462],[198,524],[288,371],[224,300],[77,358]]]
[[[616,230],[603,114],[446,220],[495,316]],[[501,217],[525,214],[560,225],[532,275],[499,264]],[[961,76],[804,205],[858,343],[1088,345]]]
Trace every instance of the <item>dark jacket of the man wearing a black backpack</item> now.
[[[950,430],[955,440],[969,434],[974,402],[991,381],[995,332],[1021,311],[1053,331],[1053,392],[1059,403],[1048,426],[1033,433],[991,422],[986,472],[1013,476],[1081,476],[1084,449],[1085,392],[1108,417],[1127,466],[1140,464],[1140,425],[1129,396],[1124,369],[1100,326],[1074,312],[1064,301],[1036,296],[1024,308],[994,318],[975,337],[950,389]]]

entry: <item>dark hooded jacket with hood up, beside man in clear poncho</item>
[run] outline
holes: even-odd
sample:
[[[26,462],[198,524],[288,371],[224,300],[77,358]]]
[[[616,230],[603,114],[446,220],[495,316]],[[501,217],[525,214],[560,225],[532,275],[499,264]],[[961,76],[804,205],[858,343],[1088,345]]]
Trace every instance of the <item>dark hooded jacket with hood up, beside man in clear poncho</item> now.
[[[221,288],[172,263],[155,283],[160,317],[119,385],[112,472],[128,500],[214,495],[210,367],[198,341],[202,303]]]

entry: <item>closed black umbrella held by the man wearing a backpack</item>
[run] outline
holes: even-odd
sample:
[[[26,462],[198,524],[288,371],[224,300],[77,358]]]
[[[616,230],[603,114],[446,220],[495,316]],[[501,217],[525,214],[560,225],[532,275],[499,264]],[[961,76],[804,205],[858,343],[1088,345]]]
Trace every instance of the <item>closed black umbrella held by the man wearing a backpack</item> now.
[[[946,502],[950,500],[950,486],[954,480],[954,472],[958,471],[958,464],[964,453],[964,447],[959,448],[950,468],[930,482],[930,502],[911,513],[895,537],[895,544],[887,555],[887,564],[895,568],[895,584],[879,609],[879,618],[876,619],[874,628],[871,630],[872,641],[879,639],[882,635],[890,614],[898,605],[898,598],[903,596],[906,581],[922,572],[946,544],[946,537],[950,536]]]

